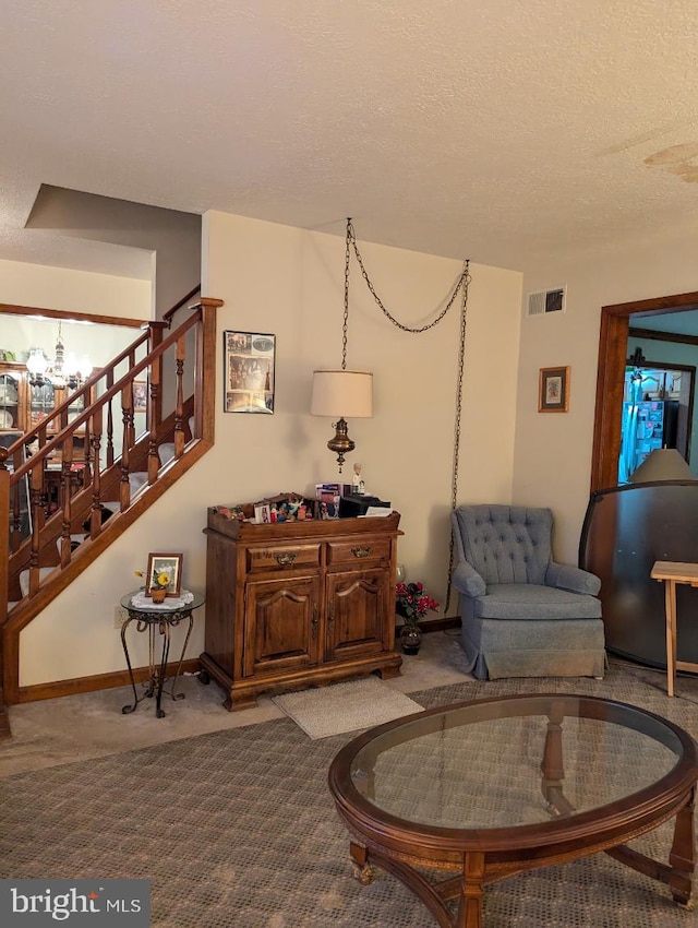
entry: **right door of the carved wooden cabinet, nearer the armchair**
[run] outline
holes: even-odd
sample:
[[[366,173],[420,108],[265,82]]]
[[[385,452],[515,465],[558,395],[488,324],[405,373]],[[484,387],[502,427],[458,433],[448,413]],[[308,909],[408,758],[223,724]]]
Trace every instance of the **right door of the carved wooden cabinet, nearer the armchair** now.
[[[381,569],[327,575],[327,661],[389,647],[389,572]]]

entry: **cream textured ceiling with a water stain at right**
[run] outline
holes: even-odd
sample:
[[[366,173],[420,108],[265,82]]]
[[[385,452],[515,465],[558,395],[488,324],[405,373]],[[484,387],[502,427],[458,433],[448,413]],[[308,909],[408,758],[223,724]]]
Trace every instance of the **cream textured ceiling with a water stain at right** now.
[[[0,258],[40,183],[521,269],[698,224],[695,0],[2,0]]]

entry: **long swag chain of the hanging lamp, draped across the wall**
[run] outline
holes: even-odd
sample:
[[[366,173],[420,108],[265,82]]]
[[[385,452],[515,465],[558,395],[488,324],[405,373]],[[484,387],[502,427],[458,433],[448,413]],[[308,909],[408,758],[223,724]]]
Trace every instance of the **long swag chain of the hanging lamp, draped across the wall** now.
[[[363,279],[365,281],[366,287],[371,290],[373,295],[373,299],[376,301],[376,305],[381,309],[384,316],[386,316],[390,322],[396,325],[398,329],[401,329],[402,332],[409,332],[411,334],[419,334],[420,332],[428,332],[430,329],[433,329],[434,325],[438,325],[442,319],[446,316],[450,307],[454,305],[456,297],[460,293],[460,340],[458,346],[458,380],[456,383],[456,415],[455,415],[455,426],[454,426],[454,461],[453,461],[453,471],[452,471],[452,485],[450,485],[450,508],[452,511],[456,509],[458,504],[458,463],[460,456],[460,420],[462,417],[462,376],[466,364],[466,324],[468,317],[468,287],[470,285],[471,276],[470,276],[470,261],[466,259],[462,263],[462,271],[460,272],[458,279],[454,284],[453,293],[448,299],[448,302],[438,313],[438,316],[432,320],[432,322],[428,322],[425,325],[412,328],[410,325],[405,325],[399,322],[383,305],[380,296],[376,294],[375,288],[371,281],[369,279],[369,275],[366,273],[366,269],[363,266],[363,259],[361,258],[361,253],[359,252],[359,246],[357,245],[357,236],[353,230],[353,225],[351,219],[347,219],[347,247],[345,254],[345,319],[344,319],[344,328],[342,328],[342,343],[341,343],[341,369],[345,370],[347,366],[347,328],[349,320],[349,259],[350,251],[353,248],[353,253],[359,263],[359,267],[361,269],[361,274],[363,275]],[[448,611],[448,606],[450,605],[450,584],[453,578],[454,570],[454,534],[453,531],[450,533],[450,545],[448,548],[448,580],[446,586],[446,603],[444,604],[444,612]]]

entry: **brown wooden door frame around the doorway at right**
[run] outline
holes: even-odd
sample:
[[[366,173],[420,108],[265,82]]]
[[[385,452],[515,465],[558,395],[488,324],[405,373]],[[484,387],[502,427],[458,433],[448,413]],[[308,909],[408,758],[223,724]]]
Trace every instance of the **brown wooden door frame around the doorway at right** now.
[[[630,317],[637,312],[664,316],[690,309],[698,310],[696,292],[601,307],[591,492],[618,485],[621,419]]]

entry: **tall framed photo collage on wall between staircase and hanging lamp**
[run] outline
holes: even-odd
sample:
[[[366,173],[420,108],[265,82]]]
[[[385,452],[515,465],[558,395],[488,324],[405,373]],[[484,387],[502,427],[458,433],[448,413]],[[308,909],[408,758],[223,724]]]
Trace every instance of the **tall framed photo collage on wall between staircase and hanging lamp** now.
[[[222,338],[224,412],[272,415],[276,335],[226,331]]]

